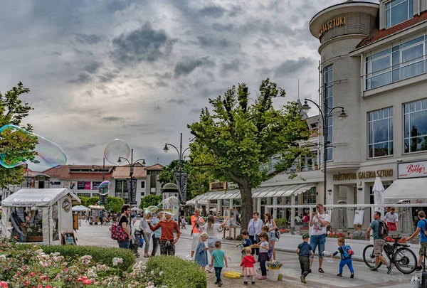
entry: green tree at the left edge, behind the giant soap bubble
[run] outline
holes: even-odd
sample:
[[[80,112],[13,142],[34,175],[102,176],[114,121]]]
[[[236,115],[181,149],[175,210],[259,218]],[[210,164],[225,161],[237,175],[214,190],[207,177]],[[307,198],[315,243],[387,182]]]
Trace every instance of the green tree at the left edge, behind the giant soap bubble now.
[[[23,87],[21,82],[6,93],[0,92],[0,127],[13,124],[28,132],[33,131],[31,124],[21,126],[21,121],[33,110],[27,102],[19,97],[30,90]],[[0,154],[6,154],[6,158],[21,159],[21,161],[33,161],[36,152],[37,139],[29,137],[25,132],[2,133],[0,137]],[[4,168],[0,166],[0,188],[9,188],[9,185],[19,185],[23,182],[23,166]]]

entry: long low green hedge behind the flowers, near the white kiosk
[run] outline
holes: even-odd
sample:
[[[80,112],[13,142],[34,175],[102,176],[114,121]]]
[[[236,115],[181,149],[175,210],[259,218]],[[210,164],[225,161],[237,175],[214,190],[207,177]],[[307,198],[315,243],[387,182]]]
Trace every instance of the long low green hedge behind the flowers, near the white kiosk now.
[[[18,249],[23,250],[33,247],[31,244],[17,245]],[[122,271],[127,270],[135,264],[135,254],[129,249],[97,247],[97,246],[80,246],[80,245],[38,245],[46,254],[60,252],[63,257],[82,257],[85,255],[92,256],[92,260],[98,264],[112,266],[112,258],[122,258],[123,262],[117,265]]]

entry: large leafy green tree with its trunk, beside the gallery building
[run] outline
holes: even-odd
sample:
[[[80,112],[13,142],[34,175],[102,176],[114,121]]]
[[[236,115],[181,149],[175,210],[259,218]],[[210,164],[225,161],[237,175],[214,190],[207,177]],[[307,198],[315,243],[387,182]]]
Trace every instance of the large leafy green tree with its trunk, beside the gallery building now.
[[[212,112],[205,107],[200,121],[188,125],[196,137],[190,144],[194,165],[209,169],[220,181],[235,182],[241,191],[242,224],[248,225],[253,213],[252,188],[279,173],[296,175],[292,164],[307,149],[300,142],[309,137],[296,102],[275,109],[273,100],[285,97],[285,90],[269,79],[264,80],[259,94],[250,102],[246,84],[231,87],[223,96],[209,99]],[[273,156],[280,155],[273,169]]]

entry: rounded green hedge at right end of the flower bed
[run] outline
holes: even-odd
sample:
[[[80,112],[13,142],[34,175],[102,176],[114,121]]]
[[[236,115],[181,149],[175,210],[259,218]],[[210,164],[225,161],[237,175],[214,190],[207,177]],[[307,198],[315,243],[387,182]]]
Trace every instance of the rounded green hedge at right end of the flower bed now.
[[[164,277],[156,279],[156,287],[206,288],[206,274],[200,266],[188,260],[171,256],[151,257],[147,261],[147,270],[160,270]]]

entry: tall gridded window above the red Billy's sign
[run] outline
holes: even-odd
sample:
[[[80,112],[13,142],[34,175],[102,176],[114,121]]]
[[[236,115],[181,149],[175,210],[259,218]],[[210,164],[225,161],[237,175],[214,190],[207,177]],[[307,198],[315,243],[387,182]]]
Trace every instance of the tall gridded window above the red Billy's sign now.
[[[427,99],[404,105],[405,153],[427,150]]]

